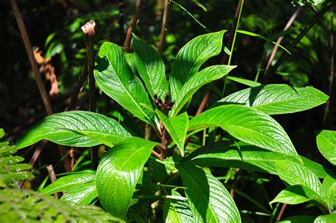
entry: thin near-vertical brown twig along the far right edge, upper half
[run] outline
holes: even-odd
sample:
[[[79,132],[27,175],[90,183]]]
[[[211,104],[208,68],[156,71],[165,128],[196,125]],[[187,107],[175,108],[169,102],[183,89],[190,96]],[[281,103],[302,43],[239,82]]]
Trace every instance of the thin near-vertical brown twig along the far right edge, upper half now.
[[[330,9],[330,80],[329,80],[329,89],[328,95],[330,98],[327,100],[327,104],[325,106],[325,114],[323,116],[323,126],[327,124],[327,115],[329,114],[330,100],[332,95],[332,85],[334,82],[335,75],[335,59],[334,59],[334,9],[331,7]]]

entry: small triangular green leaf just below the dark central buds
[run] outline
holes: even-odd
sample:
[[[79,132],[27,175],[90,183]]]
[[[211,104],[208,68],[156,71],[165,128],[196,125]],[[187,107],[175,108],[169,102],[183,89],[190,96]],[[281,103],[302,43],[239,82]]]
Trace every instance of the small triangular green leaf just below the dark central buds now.
[[[168,118],[162,112],[157,110],[157,115],[159,116],[159,119],[162,120],[164,127],[167,129],[170,136],[172,136],[174,142],[177,143],[177,146],[181,151],[181,156],[184,156],[184,141],[186,140],[186,131],[188,130],[189,124],[188,114],[184,112],[179,116]]]

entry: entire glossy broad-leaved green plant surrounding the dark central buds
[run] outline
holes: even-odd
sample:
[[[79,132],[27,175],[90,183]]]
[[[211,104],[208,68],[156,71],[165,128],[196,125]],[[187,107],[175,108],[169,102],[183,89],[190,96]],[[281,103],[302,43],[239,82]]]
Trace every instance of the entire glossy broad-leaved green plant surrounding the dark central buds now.
[[[228,185],[211,171],[240,168],[278,175],[284,181],[286,188],[270,204],[310,202],[320,208],[321,216],[315,221],[335,219],[335,173],[299,156],[286,131],[271,117],[317,107],[328,99],[323,92],[257,83],[220,99],[198,116],[187,113],[199,88],[236,67],[202,67],[221,52],[224,33],[208,33],[186,43],[169,75],[157,50],[135,35],[134,53],[103,43],[96,58],[96,84],[157,135],[142,138],[132,126],[93,112],[47,116],[18,139],[17,148],[45,138],[65,146],[102,143],[109,149],[97,170],[70,173],[41,192],[67,192],[62,200],[77,205],[99,200],[106,212],[121,219],[150,221],[162,216],[165,222],[242,222],[246,215],[235,205]],[[218,129],[227,137],[220,136]],[[186,146],[187,138],[202,131],[218,136],[196,150]],[[318,148],[335,165],[336,132],[317,134]],[[274,220],[270,207],[245,193],[242,196]]]

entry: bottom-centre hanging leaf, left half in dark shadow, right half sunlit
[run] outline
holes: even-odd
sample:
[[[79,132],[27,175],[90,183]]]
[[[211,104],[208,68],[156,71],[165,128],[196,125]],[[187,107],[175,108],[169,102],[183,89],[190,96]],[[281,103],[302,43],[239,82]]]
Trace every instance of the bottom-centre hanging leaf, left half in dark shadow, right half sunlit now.
[[[177,168],[195,222],[241,222],[230,193],[211,173],[190,164]]]

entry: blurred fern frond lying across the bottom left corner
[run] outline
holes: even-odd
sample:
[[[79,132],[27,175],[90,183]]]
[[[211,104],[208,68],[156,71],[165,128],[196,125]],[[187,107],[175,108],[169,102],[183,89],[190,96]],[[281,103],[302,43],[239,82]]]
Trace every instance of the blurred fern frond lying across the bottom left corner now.
[[[31,190],[0,192],[0,222],[124,222],[94,205],[69,202]]]

